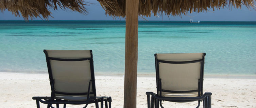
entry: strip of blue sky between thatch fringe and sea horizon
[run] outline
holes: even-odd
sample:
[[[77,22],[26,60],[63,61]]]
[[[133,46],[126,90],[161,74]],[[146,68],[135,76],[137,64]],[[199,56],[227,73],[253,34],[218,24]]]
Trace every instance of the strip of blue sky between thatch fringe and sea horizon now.
[[[112,17],[105,15],[105,10],[101,7],[101,5],[96,0],[87,0],[87,2],[92,3],[89,6],[86,6],[89,14],[83,15],[79,12],[74,12],[71,10],[52,10],[52,17],[49,20],[115,20]],[[255,7],[256,8],[256,7]],[[158,20],[158,21],[189,21],[193,19],[194,21],[256,21],[256,10],[253,8],[248,9],[246,6],[242,6],[241,9],[236,9],[232,7],[229,8],[221,8],[220,10],[209,9],[207,12],[201,13],[192,13],[188,15],[182,15],[182,18],[179,16],[160,16],[154,17],[143,17],[149,21]],[[0,20],[24,20],[22,17],[15,17],[12,15],[12,12],[5,10],[0,12]],[[40,18],[34,18],[33,20],[41,20]],[[120,19],[117,19],[120,20]],[[125,20],[125,19],[121,19]],[[139,20],[143,20],[139,18]]]

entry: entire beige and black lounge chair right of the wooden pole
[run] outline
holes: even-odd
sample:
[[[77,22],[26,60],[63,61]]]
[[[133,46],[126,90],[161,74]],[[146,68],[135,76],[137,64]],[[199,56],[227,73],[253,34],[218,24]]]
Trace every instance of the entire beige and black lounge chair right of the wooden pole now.
[[[211,108],[211,93],[203,94],[205,53],[155,54],[157,93],[146,92],[148,108],[164,108],[163,101],[203,101]],[[150,105],[151,96],[151,105]]]

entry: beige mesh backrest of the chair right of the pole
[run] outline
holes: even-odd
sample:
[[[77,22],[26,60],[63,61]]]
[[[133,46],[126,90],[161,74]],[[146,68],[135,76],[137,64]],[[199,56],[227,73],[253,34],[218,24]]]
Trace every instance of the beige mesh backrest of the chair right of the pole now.
[[[204,56],[205,53],[156,54],[158,94],[163,97],[201,96]]]

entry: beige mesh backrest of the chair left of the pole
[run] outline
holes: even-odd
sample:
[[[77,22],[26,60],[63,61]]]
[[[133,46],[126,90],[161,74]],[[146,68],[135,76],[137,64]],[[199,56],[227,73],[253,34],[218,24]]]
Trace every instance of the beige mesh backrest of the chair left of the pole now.
[[[50,84],[54,88],[52,95],[96,96],[91,50],[44,50],[44,52]]]

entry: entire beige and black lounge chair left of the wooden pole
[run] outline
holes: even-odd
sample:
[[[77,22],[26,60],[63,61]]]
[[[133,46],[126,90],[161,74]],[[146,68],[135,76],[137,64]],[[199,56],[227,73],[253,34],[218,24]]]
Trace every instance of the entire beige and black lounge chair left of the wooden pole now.
[[[111,97],[97,97],[95,88],[95,76],[93,70],[92,50],[44,50],[51,84],[51,97],[33,97],[37,108],[39,102],[48,104],[48,108],[54,108],[52,104],[88,104],[103,102],[107,108],[111,108]]]

